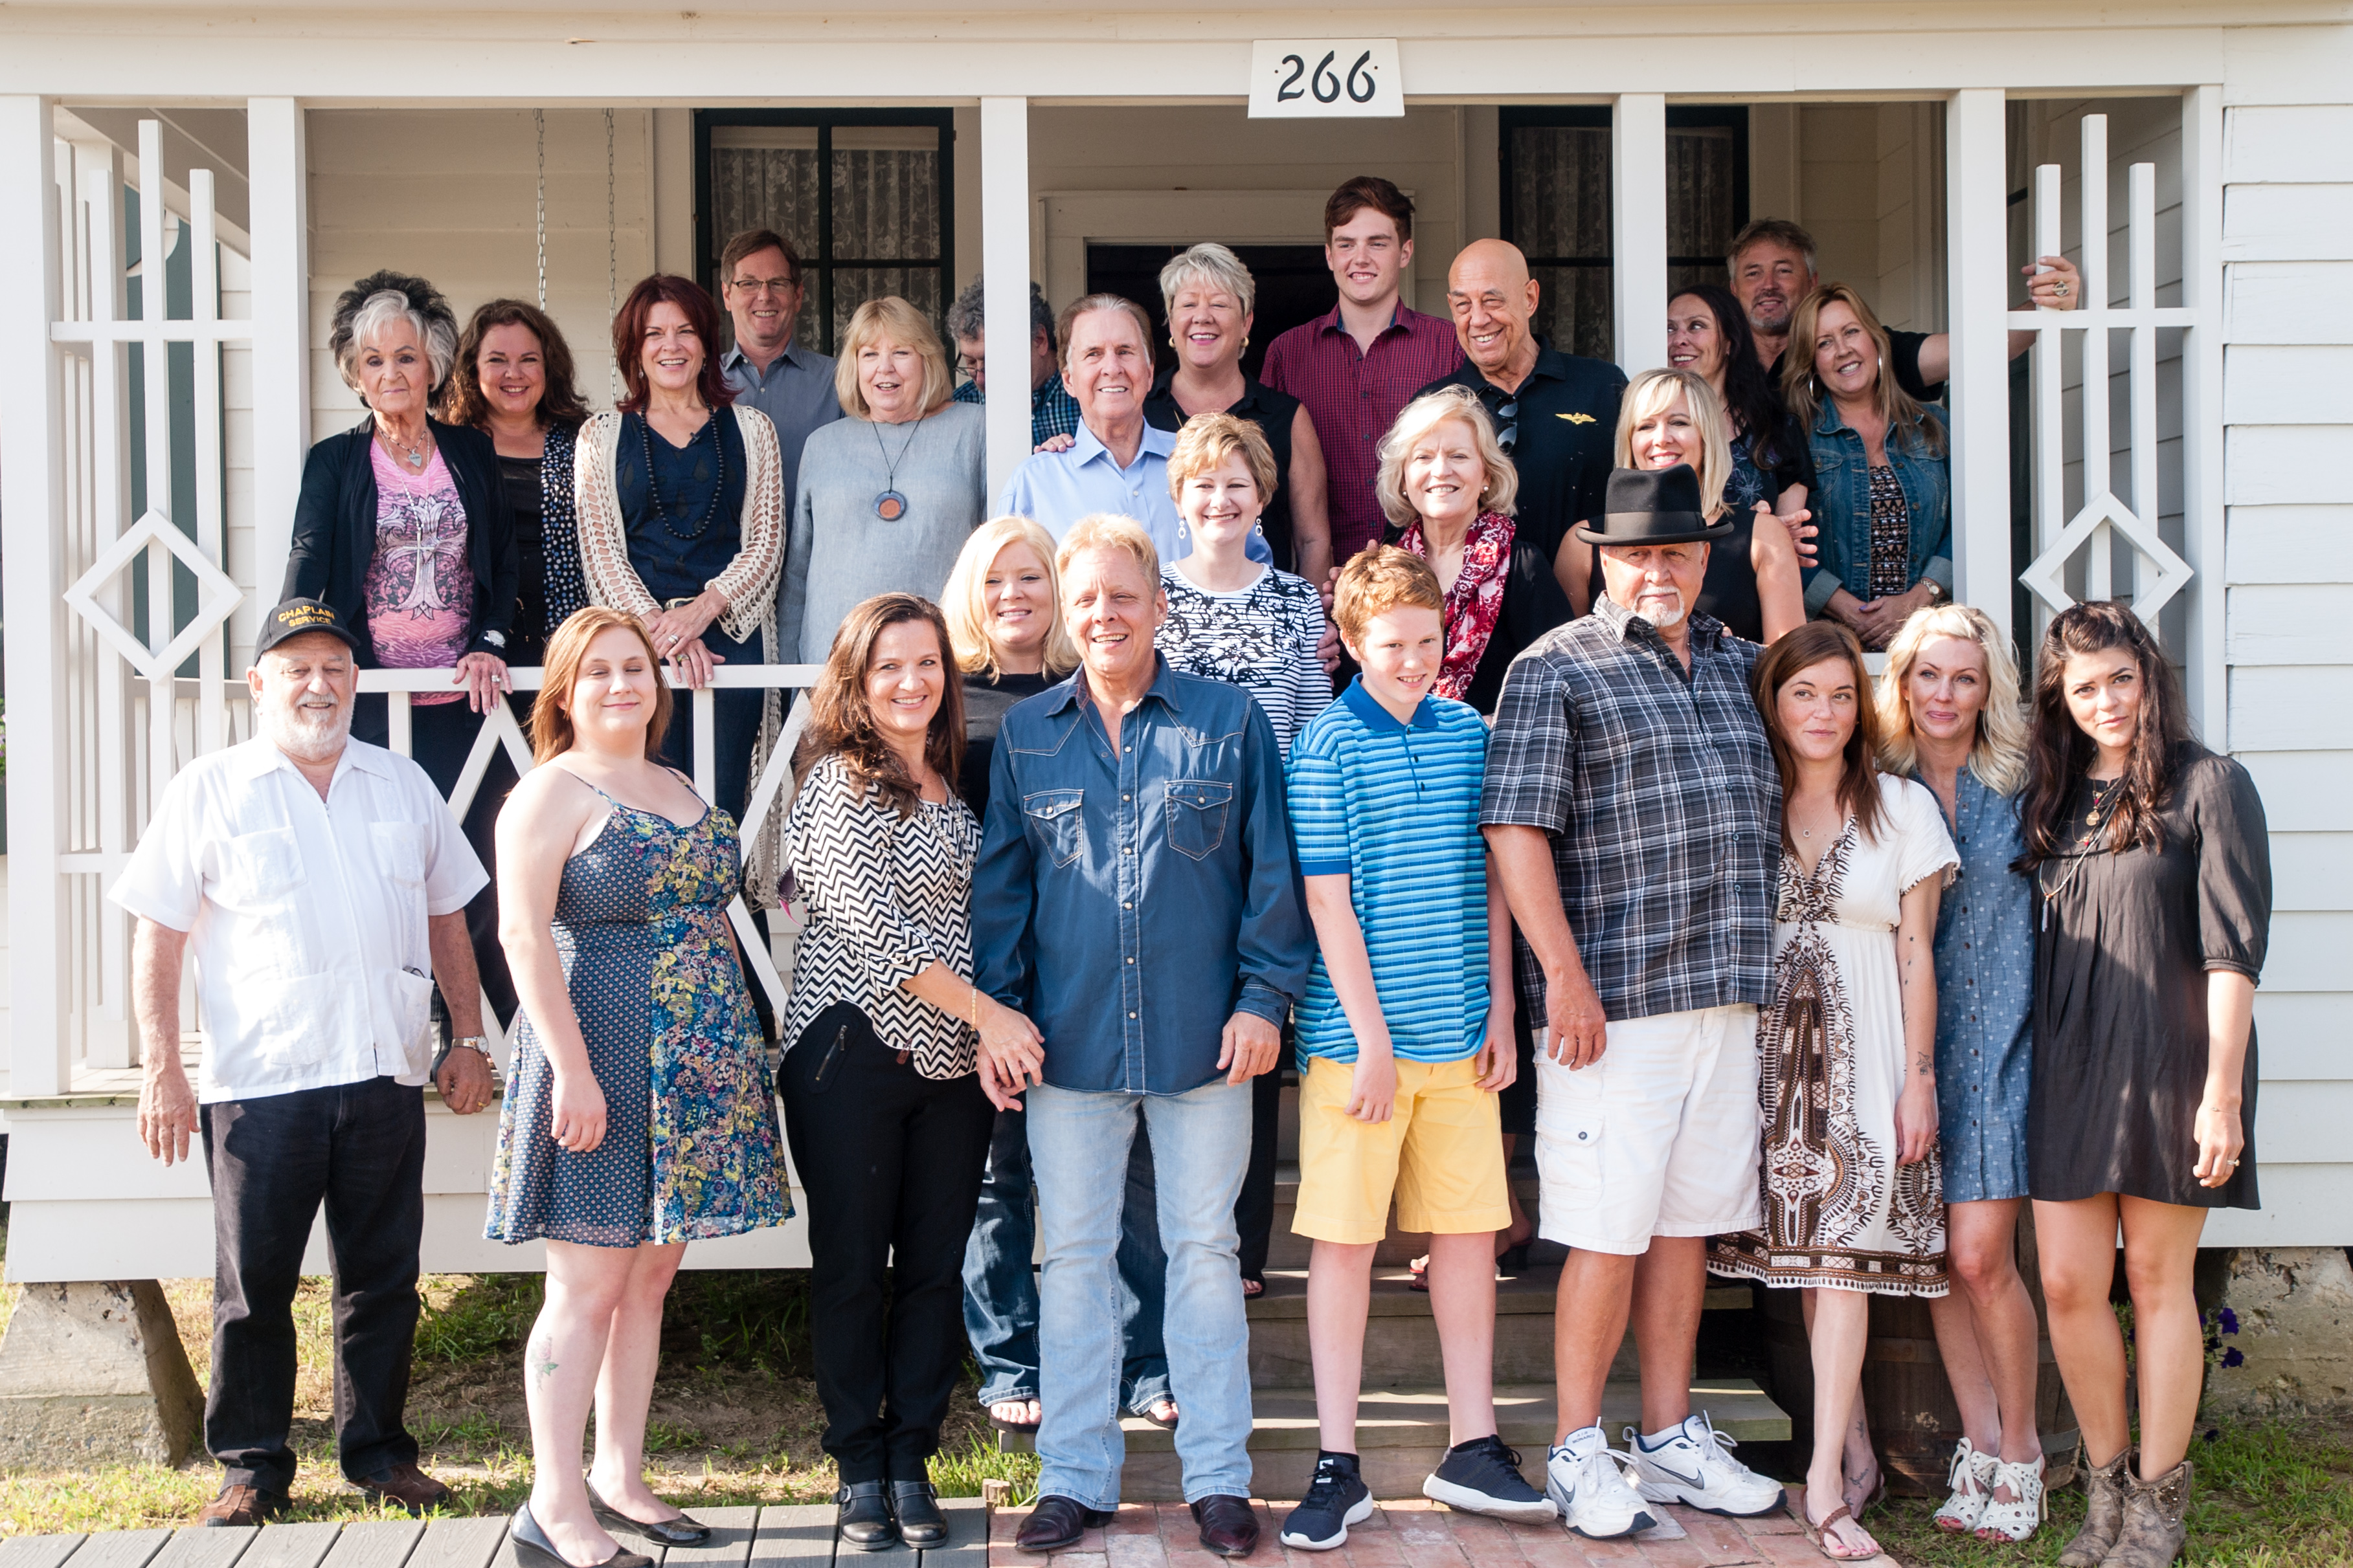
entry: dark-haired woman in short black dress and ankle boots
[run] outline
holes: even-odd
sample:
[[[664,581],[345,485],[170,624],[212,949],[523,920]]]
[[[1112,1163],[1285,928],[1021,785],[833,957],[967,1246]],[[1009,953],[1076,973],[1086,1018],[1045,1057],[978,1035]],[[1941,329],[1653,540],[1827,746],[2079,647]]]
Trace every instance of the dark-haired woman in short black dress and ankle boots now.
[[[2092,1507],[2061,1563],[2174,1561],[2205,1378],[2191,1269],[2209,1208],[2257,1208],[2254,985],[2271,851],[2254,780],[2191,738],[2181,684],[2120,604],[2042,637],[2021,802],[2035,882],[2028,1192],[2052,1349]],[[2108,1309],[2125,1237],[2125,1340]]]

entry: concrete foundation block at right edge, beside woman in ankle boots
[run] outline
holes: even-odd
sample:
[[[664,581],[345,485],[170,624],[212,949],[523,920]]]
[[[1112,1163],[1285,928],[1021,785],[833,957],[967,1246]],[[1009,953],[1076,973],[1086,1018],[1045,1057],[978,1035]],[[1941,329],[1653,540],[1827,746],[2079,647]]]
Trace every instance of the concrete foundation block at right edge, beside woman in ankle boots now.
[[[2245,1361],[2207,1373],[2209,1410],[2353,1413],[2353,1265],[2344,1248],[2240,1248],[2221,1305],[2238,1321],[2221,1345]]]

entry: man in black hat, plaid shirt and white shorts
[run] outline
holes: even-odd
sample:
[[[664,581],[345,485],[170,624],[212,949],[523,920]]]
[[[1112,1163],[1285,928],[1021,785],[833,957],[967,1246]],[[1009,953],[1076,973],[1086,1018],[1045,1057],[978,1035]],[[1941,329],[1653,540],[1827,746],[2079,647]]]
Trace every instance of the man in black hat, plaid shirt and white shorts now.
[[[1760,1215],[1755,1011],[1781,860],[1781,773],[1748,696],[1760,649],[1692,611],[1729,531],[1687,465],[1614,470],[1577,529],[1605,592],[1511,665],[1487,745],[1480,825],[1520,1004],[1544,1020],[1541,1234],[1569,1246],[1546,1490],[1595,1537],[1659,1523],[1661,1502],[1781,1505],[1689,1399],[1708,1237]],[[1628,1314],[1642,1427],[1617,1453],[1602,1385]]]

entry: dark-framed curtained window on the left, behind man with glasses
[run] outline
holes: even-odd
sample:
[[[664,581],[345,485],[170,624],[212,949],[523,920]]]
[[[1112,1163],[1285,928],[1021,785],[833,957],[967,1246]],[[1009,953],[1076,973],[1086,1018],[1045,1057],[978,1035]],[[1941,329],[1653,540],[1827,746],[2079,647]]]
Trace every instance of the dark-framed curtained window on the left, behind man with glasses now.
[[[899,294],[939,327],[955,252],[948,110],[704,110],[701,277],[727,237],[774,228],[800,252],[795,341],[833,353],[852,313]]]

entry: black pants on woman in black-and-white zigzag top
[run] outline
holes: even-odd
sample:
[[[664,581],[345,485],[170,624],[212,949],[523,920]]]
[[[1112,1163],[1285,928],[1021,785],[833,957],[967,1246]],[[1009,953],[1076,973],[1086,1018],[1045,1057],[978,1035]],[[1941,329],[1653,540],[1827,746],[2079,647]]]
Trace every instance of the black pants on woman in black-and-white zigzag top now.
[[[809,1194],[809,1342],[842,1486],[922,1481],[965,1371],[965,1239],[995,1110],[974,1074],[927,1079],[861,1046],[809,1088],[784,1058],[784,1131]],[[889,1309],[885,1312],[885,1265]]]

